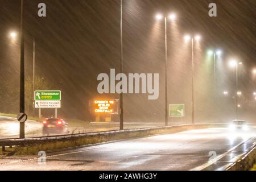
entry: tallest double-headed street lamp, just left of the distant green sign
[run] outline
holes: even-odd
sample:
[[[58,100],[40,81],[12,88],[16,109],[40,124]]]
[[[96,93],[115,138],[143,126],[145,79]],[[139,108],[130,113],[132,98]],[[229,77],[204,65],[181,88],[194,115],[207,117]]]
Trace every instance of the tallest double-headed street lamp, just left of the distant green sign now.
[[[164,52],[165,52],[165,68],[166,68],[166,82],[165,82],[165,92],[166,92],[166,101],[165,101],[165,125],[168,126],[168,85],[167,85],[167,75],[168,75],[168,65],[167,65],[167,18],[170,20],[175,20],[176,19],[176,15],[175,14],[170,14],[170,15],[166,15],[163,16],[162,14],[157,14],[155,17],[157,20],[162,20],[164,18]]]

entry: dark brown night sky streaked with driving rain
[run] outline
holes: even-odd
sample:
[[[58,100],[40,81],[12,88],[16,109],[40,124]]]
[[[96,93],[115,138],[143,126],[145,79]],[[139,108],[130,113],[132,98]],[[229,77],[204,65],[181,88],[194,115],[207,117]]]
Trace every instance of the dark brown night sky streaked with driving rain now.
[[[47,5],[46,18],[37,16],[40,2]],[[217,3],[217,18],[208,16],[210,2]],[[18,0],[0,0],[0,80],[13,82],[14,88],[19,86],[19,43],[10,42],[8,32],[19,31],[19,6]],[[232,57],[244,63],[241,89],[253,92],[256,87],[250,69],[256,65],[255,10],[255,0],[123,0],[124,72],[160,73],[159,99],[148,101],[146,95],[126,95],[125,118],[150,121],[164,118],[164,24],[154,19],[156,13],[177,14],[175,27],[168,23],[168,94],[170,102],[187,105],[186,119],[190,118],[191,105],[190,52],[183,43],[186,33],[202,35],[196,54],[199,120],[209,119],[207,113],[212,113],[213,108],[209,99],[212,88],[208,86],[212,71],[202,63],[207,48],[220,47],[225,52],[220,63],[222,72],[218,73],[220,92],[234,88],[234,73],[226,66]],[[32,76],[32,38],[35,38],[36,75],[51,82],[52,89],[63,90],[60,114],[88,119],[88,101],[97,97],[97,75],[109,73],[110,68],[119,69],[119,1],[24,0],[24,12],[26,76]],[[200,114],[201,107],[207,108],[204,117]],[[18,111],[18,107],[15,109]]]

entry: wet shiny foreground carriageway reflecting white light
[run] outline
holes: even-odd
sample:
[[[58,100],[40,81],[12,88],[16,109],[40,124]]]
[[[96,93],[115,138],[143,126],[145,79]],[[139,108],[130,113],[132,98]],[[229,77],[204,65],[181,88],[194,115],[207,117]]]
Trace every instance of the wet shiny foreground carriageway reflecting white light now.
[[[220,128],[156,135],[47,154],[42,165],[37,160],[18,163],[10,159],[14,163],[0,169],[19,170],[25,165],[26,170],[191,170],[200,166],[220,170],[250,149],[255,131]],[[231,148],[234,150],[227,154]],[[208,165],[210,151],[221,157],[216,165]]]

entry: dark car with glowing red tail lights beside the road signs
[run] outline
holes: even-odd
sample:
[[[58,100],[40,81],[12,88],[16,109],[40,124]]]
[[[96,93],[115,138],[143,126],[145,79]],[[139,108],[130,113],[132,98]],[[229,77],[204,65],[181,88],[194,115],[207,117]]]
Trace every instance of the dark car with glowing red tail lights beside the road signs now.
[[[43,120],[43,134],[68,134],[68,123],[60,118]]]

